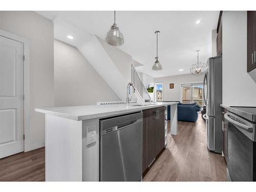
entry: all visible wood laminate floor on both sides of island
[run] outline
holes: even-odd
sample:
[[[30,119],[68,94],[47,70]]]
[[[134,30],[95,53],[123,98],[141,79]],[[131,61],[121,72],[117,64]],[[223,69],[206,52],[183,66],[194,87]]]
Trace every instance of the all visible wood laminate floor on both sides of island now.
[[[148,169],[143,181],[225,181],[226,164],[206,147],[205,122],[178,122],[168,130],[168,148]],[[45,181],[45,148],[0,159],[0,181]]]

